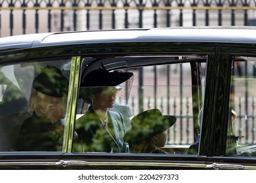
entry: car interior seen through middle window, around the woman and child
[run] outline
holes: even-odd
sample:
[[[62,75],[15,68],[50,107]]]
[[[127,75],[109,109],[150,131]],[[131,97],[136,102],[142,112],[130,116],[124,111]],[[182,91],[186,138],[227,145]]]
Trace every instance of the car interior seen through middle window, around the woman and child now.
[[[200,135],[198,114],[202,108],[206,61],[207,56],[202,55],[83,58],[81,75],[102,68],[102,65],[109,71],[132,72],[135,78],[125,105],[129,105],[133,116],[150,108],[175,115],[177,123],[168,130],[168,140],[162,149],[169,154],[187,154],[190,145],[198,141]],[[179,73],[182,70],[184,73]],[[157,80],[156,75],[161,79]],[[138,98],[140,92],[144,93],[143,100]],[[186,95],[183,98],[187,100],[182,101],[181,95]],[[139,107],[139,103],[143,106]],[[88,107],[86,102],[79,100],[77,118],[83,116]]]

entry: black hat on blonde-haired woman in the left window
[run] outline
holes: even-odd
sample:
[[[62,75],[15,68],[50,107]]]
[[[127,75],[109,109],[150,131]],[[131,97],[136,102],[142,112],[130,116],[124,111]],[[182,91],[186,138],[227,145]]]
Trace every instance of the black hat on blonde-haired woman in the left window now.
[[[52,97],[66,97],[68,95],[68,83],[60,69],[47,65],[33,80],[33,88],[37,92]]]

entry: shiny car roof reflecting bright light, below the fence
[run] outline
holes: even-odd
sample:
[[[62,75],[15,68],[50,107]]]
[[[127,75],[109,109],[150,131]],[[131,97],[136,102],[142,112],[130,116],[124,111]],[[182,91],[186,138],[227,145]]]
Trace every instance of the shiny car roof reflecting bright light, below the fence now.
[[[0,51],[100,42],[230,42],[256,43],[255,27],[168,27],[36,33],[0,38]]]

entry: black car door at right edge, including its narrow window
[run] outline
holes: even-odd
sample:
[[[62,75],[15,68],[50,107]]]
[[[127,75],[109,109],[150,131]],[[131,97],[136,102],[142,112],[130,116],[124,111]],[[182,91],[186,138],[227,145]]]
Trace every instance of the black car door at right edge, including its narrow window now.
[[[255,48],[230,47],[218,48],[206,167],[255,169]]]

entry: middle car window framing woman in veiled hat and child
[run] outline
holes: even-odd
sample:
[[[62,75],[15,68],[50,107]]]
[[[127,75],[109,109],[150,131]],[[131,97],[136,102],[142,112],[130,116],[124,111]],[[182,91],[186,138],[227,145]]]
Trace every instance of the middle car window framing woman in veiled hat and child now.
[[[84,58],[73,152],[197,155],[206,61]]]

